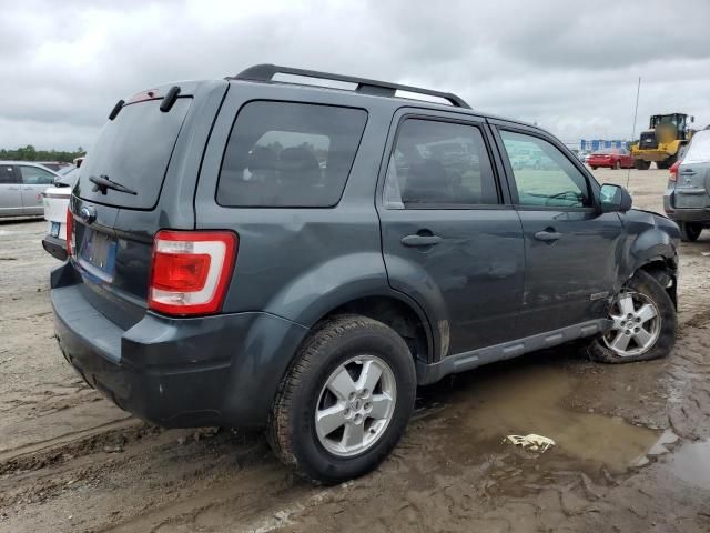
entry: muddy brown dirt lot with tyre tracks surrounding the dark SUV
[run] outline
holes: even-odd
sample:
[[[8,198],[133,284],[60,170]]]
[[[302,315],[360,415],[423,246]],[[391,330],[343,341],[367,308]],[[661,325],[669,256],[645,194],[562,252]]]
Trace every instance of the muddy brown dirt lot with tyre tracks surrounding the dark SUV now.
[[[666,179],[631,171],[637,207],[660,210]],[[668,360],[564,346],[445,380],[375,473],[323,489],[260,434],[163,431],[87,388],[52,336],[44,228],[0,223],[0,532],[710,531],[710,232],[681,248]],[[501,443],[528,432],[558,445]]]

